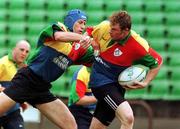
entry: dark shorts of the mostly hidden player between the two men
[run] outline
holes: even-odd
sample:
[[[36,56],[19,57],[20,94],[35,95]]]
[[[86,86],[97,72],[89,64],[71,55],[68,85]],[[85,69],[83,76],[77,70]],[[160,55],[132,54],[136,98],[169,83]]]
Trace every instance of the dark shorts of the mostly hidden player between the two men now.
[[[82,106],[70,106],[69,110],[76,120],[78,129],[89,129],[93,117],[89,109]]]

